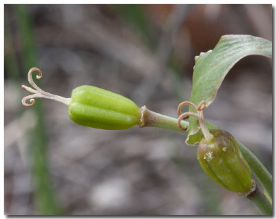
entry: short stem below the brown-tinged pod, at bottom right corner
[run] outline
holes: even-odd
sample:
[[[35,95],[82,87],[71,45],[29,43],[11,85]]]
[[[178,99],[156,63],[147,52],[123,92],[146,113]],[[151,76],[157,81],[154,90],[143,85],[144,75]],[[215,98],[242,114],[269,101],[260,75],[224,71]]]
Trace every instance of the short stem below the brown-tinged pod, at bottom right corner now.
[[[266,196],[264,196],[264,193],[262,193],[258,187],[256,187],[255,191],[250,193],[250,195],[248,195],[246,198],[253,202],[255,207],[257,207],[257,209],[259,209],[262,214],[272,215],[272,206]]]

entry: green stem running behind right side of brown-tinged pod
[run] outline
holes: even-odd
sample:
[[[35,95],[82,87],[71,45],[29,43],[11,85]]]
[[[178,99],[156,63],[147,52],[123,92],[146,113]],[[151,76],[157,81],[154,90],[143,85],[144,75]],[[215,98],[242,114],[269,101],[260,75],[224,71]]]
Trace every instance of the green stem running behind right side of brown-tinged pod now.
[[[272,198],[272,176],[264,167],[262,162],[259,161],[259,159],[251,152],[249,149],[244,146],[244,144],[238,142],[239,149],[242,151],[242,155],[244,155],[244,159],[248,162],[251,171],[253,171],[256,178],[259,180],[259,182],[262,183],[264,189],[266,189],[266,192]]]

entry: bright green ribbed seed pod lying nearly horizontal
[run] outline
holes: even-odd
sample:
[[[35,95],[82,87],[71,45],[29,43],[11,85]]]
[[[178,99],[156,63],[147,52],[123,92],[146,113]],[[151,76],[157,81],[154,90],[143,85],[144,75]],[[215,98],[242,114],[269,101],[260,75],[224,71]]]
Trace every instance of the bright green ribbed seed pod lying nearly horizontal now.
[[[138,106],[132,100],[97,88],[79,86],[72,91],[68,116],[81,126],[127,129],[138,124]]]

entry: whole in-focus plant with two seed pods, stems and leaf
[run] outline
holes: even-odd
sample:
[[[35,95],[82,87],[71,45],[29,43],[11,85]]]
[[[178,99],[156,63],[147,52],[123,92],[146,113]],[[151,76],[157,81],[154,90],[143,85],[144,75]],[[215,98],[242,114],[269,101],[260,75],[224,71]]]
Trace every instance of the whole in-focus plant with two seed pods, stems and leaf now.
[[[271,57],[272,44],[259,37],[226,35],[221,37],[214,50],[196,57],[190,102],[179,104],[178,120],[152,112],[146,106],[138,108],[130,99],[92,86],[75,88],[71,98],[46,93],[32,81],[34,70],[39,72],[37,79],[42,76],[38,68],[32,68],[28,73],[28,80],[35,90],[22,86],[24,90],[34,94],[24,97],[22,103],[25,106],[33,106],[35,97],[54,99],[68,105],[68,115],[74,122],[95,128],[124,129],[138,124],[141,128],[152,126],[187,133],[186,143],[199,143],[199,162],[215,182],[248,198],[261,213],[270,215],[270,173],[255,155],[237,142],[230,133],[220,131],[219,127],[204,120],[204,110],[214,101],[224,77],[239,59],[247,55]],[[26,103],[27,99],[30,99],[30,104]],[[181,114],[181,107],[187,104],[190,105],[189,112]],[[193,117],[190,117],[189,122],[184,121],[190,115]],[[204,156],[209,156],[210,162],[205,162]],[[219,162],[223,165],[219,166]],[[255,181],[251,180],[250,170],[264,187],[268,198],[259,190]]]

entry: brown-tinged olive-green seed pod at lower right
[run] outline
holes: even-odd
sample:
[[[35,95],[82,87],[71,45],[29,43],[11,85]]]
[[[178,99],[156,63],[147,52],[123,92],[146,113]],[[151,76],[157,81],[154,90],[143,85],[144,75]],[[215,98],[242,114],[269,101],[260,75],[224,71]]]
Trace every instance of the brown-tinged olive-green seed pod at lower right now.
[[[227,131],[211,130],[214,136],[201,138],[197,159],[204,171],[224,189],[238,193],[250,191],[251,173],[235,138]]]

